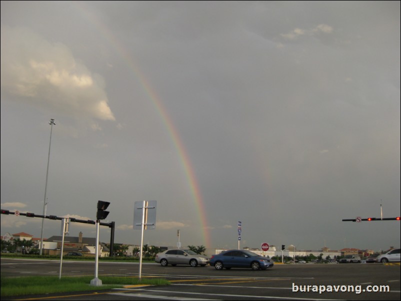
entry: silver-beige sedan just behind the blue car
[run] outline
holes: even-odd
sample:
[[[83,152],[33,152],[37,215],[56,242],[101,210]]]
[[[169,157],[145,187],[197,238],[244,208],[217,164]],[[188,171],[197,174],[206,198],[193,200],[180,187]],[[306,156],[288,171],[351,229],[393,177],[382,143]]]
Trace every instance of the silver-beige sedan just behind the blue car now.
[[[191,250],[178,250],[178,249],[170,249],[165,250],[164,252],[157,253],[154,261],[160,263],[161,266],[167,266],[171,264],[173,266],[177,264],[189,264],[190,266],[205,266],[209,263],[209,258],[206,256],[196,254]]]

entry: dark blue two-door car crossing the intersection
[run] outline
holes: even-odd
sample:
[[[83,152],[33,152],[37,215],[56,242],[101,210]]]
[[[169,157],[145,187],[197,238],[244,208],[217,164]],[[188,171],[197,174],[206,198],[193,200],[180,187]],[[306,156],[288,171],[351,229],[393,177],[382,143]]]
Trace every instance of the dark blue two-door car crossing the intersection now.
[[[215,269],[250,267],[253,270],[272,267],[274,262],[248,250],[226,250],[210,257],[210,265]]]

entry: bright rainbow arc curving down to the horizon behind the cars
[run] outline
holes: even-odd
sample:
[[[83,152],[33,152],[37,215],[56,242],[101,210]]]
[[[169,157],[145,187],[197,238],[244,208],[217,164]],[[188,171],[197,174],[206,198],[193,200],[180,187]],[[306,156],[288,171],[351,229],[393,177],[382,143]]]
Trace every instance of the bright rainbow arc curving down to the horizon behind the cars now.
[[[110,31],[110,29],[108,29],[108,27],[106,27],[103,23],[100,22],[98,16],[94,15],[91,12],[91,9],[86,6],[87,4],[81,1],[71,1],[71,4],[77,8],[78,13],[82,15],[83,18],[89,20],[92,24],[94,24],[95,27],[105,36],[105,38],[112,45],[115,51],[125,60],[127,66],[133,71],[133,74],[138,79],[146,95],[151,100],[154,109],[157,111],[160,119],[162,120],[162,123],[165,125],[168,131],[169,137],[172,143],[174,144],[174,148],[176,149],[179,161],[181,162],[181,165],[185,172],[185,177],[188,182],[192,195],[192,200],[195,203],[197,212],[199,214],[199,222],[202,228],[203,244],[206,247],[211,247],[210,235],[207,227],[208,223],[206,219],[206,211],[204,208],[202,195],[199,189],[199,185],[197,183],[195,172],[193,170],[185,146],[182,143],[182,140],[178,134],[177,129],[174,126],[174,123],[172,122],[172,119],[168,115],[168,112],[165,109],[165,107],[163,106],[161,98],[152,88],[149,81],[146,80],[143,72],[141,72],[141,70],[137,67],[132,55],[127,51],[123,43],[112,34],[112,32]]]

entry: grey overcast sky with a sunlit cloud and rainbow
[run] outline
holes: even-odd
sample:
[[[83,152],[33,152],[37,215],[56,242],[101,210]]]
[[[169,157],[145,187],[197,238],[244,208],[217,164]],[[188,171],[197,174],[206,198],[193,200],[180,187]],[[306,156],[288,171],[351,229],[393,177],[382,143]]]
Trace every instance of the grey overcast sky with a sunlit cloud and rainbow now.
[[[400,245],[341,221],[400,215],[399,1],[1,1],[1,208],[42,214],[50,118],[47,215],[115,242],[157,200],[150,245]]]

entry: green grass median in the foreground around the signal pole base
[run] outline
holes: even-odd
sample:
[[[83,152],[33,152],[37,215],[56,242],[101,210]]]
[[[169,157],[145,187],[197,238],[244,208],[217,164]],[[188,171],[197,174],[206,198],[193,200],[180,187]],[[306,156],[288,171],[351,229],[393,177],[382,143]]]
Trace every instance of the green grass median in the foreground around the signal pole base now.
[[[124,285],[168,285],[164,278],[110,277],[100,276],[101,286],[90,285],[93,276],[61,277],[58,276],[27,276],[1,277],[1,296],[32,295],[43,293],[85,291],[119,288]]]

